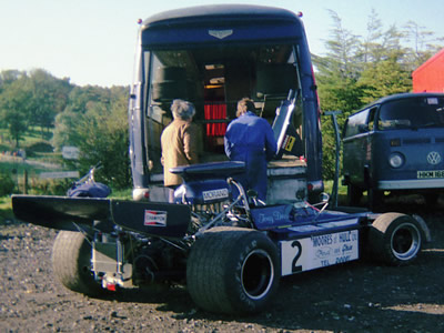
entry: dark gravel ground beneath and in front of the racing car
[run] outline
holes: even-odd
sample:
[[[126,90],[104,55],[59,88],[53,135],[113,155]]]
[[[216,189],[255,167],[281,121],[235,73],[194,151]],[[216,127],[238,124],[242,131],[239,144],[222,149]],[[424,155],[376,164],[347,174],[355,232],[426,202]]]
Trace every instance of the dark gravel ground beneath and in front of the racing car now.
[[[415,263],[357,261],[285,278],[270,309],[248,317],[199,310],[178,286],[75,294],[53,278],[56,231],[2,223],[0,332],[444,332],[443,208],[404,209],[432,231]]]

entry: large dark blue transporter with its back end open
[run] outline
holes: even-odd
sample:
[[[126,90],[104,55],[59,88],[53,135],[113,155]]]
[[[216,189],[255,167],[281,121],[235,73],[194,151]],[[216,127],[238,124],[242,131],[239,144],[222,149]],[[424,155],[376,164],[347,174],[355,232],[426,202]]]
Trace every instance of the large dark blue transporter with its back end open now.
[[[194,103],[201,161],[215,162],[226,160],[223,137],[240,99],[253,99],[272,124],[290,91],[297,97],[287,119],[297,151],[286,142],[281,159],[269,164],[270,203],[317,196],[323,189],[319,103],[300,18],[276,8],[212,6],[143,21],[129,110],[133,198],[165,200],[160,137],[172,121],[173,99]]]

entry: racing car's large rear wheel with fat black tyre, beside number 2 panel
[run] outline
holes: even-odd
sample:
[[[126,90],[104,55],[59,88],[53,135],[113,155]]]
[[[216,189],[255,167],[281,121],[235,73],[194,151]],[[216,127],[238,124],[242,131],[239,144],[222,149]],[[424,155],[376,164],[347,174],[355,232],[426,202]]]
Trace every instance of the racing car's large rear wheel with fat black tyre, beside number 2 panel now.
[[[186,265],[186,284],[202,309],[228,314],[262,311],[280,280],[278,249],[264,234],[214,228],[198,239]]]

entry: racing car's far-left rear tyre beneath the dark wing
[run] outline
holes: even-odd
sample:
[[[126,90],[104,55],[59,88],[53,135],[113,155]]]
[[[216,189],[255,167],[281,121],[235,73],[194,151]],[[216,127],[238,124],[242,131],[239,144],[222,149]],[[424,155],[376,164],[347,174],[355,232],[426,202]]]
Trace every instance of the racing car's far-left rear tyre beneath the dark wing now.
[[[59,232],[52,246],[52,266],[56,278],[71,291],[91,296],[104,292],[91,272],[91,244],[81,232]]]

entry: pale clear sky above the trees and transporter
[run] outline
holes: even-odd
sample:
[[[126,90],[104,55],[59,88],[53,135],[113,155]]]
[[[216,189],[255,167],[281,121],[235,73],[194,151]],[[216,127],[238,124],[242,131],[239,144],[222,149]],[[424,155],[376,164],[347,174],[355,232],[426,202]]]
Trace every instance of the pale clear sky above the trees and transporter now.
[[[0,0],[0,71],[44,69],[77,85],[129,85],[138,20],[190,6],[246,3],[301,11],[312,53],[324,56],[333,10],[365,36],[376,11],[384,30],[414,21],[444,37],[443,0]]]

